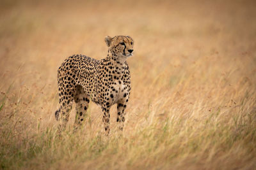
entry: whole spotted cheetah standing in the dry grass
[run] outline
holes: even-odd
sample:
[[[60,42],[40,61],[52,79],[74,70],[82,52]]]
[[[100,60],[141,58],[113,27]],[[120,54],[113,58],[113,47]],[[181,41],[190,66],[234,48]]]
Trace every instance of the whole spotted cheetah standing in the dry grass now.
[[[103,112],[102,122],[109,134],[109,109],[117,104],[118,129],[124,128],[125,108],[131,92],[131,76],[126,62],[132,56],[134,41],[130,36],[106,36],[108,55],[101,60],[85,55],[68,57],[58,69],[60,108],[55,112],[58,129],[63,131],[68,122],[73,101],[76,103],[74,129],[83,125],[90,101]]]

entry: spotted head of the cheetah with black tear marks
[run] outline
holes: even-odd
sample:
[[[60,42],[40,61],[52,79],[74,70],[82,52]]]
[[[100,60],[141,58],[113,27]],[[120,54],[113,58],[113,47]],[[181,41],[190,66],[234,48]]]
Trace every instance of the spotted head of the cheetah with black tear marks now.
[[[127,59],[132,55],[134,41],[130,36],[106,36],[105,42],[109,52],[118,59]]]

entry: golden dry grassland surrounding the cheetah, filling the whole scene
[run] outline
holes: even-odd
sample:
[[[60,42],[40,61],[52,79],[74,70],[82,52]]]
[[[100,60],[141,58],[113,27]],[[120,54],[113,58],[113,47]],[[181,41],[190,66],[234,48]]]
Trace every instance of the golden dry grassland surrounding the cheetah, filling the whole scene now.
[[[255,169],[253,1],[1,1],[0,169]],[[57,69],[129,35],[123,136],[90,103],[56,138]]]

